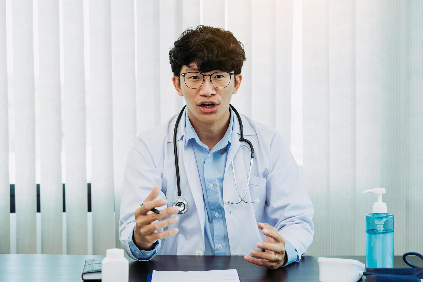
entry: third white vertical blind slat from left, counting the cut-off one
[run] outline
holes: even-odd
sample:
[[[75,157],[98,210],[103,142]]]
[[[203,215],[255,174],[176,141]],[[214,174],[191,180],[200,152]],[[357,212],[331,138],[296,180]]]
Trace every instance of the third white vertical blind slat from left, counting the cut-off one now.
[[[40,185],[41,252],[43,254],[61,254],[63,250],[63,192],[60,189],[62,186],[62,134],[59,3],[55,0],[39,1],[37,8],[39,68],[37,94],[40,112],[39,144],[42,183]],[[19,189],[18,186],[17,189]],[[19,190],[17,191],[19,192]],[[19,234],[19,229],[17,230],[17,234]]]

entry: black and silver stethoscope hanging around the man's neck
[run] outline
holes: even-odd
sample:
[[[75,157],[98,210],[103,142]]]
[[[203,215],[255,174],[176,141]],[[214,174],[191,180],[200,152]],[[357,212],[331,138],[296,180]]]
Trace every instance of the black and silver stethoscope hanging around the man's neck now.
[[[254,159],[254,148],[253,148],[253,144],[251,144],[250,141],[248,141],[247,139],[244,138],[244,131],[242,129],[242,121],[241,121],[241,117],[239,116],[239,113],[235,110],[235,108],[229,104],[229,106],[231,106],[233,112],[235,112],[236,117],[238,118],[239,121],[239,128],[240,128],[240,134],[241,134],[241,138],[239,138],[239,142],[244,141],[247,142],[249,145],[249,148],[247,147],[247,145],[241,144],[239,143],[240,146],[245,146],[248,148],[248,150],[250,150],[251,153],[251,161],[250,161],[250,171],[248,172],[248,181],[247,181],[247,187],[245,187],[245,192],[244,195],[241,197],[241,194],[239,193],[239,189],[238,189],[238,185],[236,184],[236,177],[235,177],[235,169],[233,168],[233,160],[231,161],[231,165],[232,165],[232,170],[233,170],[233,179],[235,180],[235,187],[236,187],[236,192],[238,193],[238,196],[241,200],[239,200],[238,202],[234,203],[234,202],[230,202],[227,201],[226,203],[229,204],[238,204],[241,203],[241,201],[247,203],[247,204],[252,204],[252,203],[258,203],[259,199],[255,199],[254,201],[248,202],[246,200],[244,200],[245,195],[247,194],[247,190],[248,190],[248,185],[250,184],[250,175],[251,175],[251,168],[253,167],[253,159]],[[175,153],[175,168],[176,168],[176,183],[178,185],[178,198],[176,198],[176,200],[173,202],[173,205],[179,208],[178,214],[183,214],[184,212],[186,212],[188,210],[188,203],[187,200],[185,200],[184,198],[181,197],[181,183],[179,181],[179,162],[178,162],[178,150],[176,148],[176,131],[178,129],[178,124],[179,124],[179,120],[181,119],[181,115],[184,112],[185,107],[187,107],[187,105],[185,105],[181,112],[179,113],[178,118],[176,119],[176,124],[175,124],[175,131],[173,131],[173,151]]]

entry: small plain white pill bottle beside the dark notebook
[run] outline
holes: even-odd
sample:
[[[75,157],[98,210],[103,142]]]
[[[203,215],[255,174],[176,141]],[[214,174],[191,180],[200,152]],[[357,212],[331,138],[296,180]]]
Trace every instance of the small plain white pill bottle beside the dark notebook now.
[[[102,282],[128,282],[129,262],[123,249],[107,249],[102,260]]]

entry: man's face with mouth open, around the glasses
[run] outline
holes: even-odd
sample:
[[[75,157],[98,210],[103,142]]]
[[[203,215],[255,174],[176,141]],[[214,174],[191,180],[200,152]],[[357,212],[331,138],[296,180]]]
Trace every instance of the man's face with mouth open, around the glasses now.
[[[198,72],[197,65],[195,62],[189,64],[191,68],[187,66],[181,67],[181,74],[195,71]],[[213,74],[220,70],[213,70],[205,72],[203,74]],[[236,83],[235,81],[236,76]],[[222,118],[225,112],[228,110],[229,103],[233,94],[236,94],[238,88],[241,84],[242,74],[236,74],[231,76],[231,81],[229,85],[225,88],[217,88],[210,82],[210,76],[204,77],[203,85],[200,88],[192,89],[189,88],[185,81],[184,77],[181,75],[181,83],[179,84],[177,76],[173,77],[173,85],[175,86],[176,91],[179,96],[185,98],[187,103],[188,110],[197,118],[205,123],[214,123],[215,121]],[[188,79],[188,78],[186,78]],[[205,101],[215,104],[209,109],[203,107],[201,104]],[[214,108],[214,110],[213,110]]]

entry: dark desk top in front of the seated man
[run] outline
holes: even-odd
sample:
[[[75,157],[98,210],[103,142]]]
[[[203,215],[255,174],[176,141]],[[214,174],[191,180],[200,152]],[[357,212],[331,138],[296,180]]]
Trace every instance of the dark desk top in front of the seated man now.
[[[82,281],[84,261],[102,259],[104,255],[9,255],[0,254],[0,281]],[[325,256],[351,258],[365,262],[364,256]],[[149,261],[129,261],[129,281],[146,281],[154,270],[204,271],[236,269],[242,282],[247,281],[319,281],[318,256],[303,256],[298,263],[267,270],[253,265],[243,256],[156,256]],[[421,266],[420,258],[409,261]],[[395,256],[395,267],[408,267],[401,256]]]

